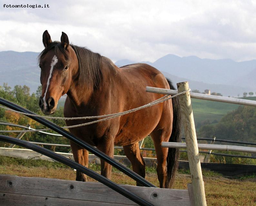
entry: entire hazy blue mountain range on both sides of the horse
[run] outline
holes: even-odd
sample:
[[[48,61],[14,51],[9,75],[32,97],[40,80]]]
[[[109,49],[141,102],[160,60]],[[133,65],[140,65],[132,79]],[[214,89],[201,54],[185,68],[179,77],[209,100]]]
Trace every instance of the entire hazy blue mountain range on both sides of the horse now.
[[[35,92],[40,85],[40,69],[36,52],[0,52],[2,65],[0,85],[27,85],[31,92]],[[133,64],[131,60],[119,60],[115,64],[119,67]],[[168,54],[150,64],[170,78],[173,84],[188,81],[191,89],[203,92],[222,93],[224,96],[242,96],[243,92],[256,92],[256,60],[235,62],[231,59],[201,59],[196,56],[179,57]]]

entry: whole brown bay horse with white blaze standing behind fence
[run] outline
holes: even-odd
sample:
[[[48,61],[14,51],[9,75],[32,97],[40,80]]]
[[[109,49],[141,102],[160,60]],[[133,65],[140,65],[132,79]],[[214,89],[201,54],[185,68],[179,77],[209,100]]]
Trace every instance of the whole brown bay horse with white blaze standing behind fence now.
[[[174,89],[172,83],[154,67],[131,64],[118,68],[100,54],[69,44],[64,32],[61,42],[52,42],[46,30],[43,44],[45,49],[39,55],[43,86],[39,106],[44,114],[54,113],[58,100],[64,94],[67,94],[64,116],[83,117],[123,112],[163,96],[145,92],[146,86]],[[66,120],[66,124],[93,120]],[[179,104],[174,98],[107,121],[69,130],[110,157],[113,157],[114,145],[122,145],[133,171],[142,177],[145,177],[145,162],[138,142],[150,135],[157,155],[160,187],[170,188],[178,166],[179,150],[162,148],[161,142],[180,142],[180,123]],[[88,166],[88,151],[73,142],[70,144],[75,161]],[[101,174],[109,179],[111,168],[111,165],[101,161]],[[77,171],[76,180],[86,181],[86,175]]]

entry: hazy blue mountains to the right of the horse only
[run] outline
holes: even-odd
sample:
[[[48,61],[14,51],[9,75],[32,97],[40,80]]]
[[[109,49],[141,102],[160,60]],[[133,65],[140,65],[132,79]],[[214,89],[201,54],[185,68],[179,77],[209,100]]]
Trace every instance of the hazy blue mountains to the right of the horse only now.
[[[123,59],[117,66],[135,62]],[[242,96],[243,92],[256,92],[256,60],[235,62],[231,59],[201,59],[196,56],[179,57],[168,54],[150,64],[160,70],[174,84],[188,81],[191,89],[222,93],[224,96]]]

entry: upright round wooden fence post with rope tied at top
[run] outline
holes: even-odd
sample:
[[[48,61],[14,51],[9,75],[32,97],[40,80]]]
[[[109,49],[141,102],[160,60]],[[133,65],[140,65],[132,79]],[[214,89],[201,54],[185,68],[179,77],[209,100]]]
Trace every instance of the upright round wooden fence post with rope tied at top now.
[[[178,93],[189,89],[188,82],[177,83],[177,87]],[[200,164],[200,155],[196,139],[195,123],[192,112],[190,94],[185,93],[178,98],[180,99],[182,119],[185,129],[184,131],[188,152],[189,168],[192,180],[192,202],[196,206],[206,206],[204,183]]]

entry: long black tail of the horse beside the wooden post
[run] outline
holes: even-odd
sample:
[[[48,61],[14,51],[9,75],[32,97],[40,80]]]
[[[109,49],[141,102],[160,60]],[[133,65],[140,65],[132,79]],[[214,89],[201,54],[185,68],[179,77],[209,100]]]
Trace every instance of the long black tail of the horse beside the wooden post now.
[[[167,78],[166,78],[167,79]],[[167,79],[170,89],[175,89],[172,82]],[[178,98],[172,99],[172,110],[173,110],[173,122],[172,122],[172,134],[169,142],[181,142],[181,111]],[[171,188],[173,186],[175,173],[179,166],[180,149],[169,148],[167,155],[167,180],[165,182],[165,188]]]

